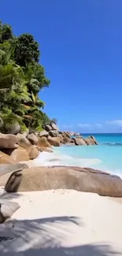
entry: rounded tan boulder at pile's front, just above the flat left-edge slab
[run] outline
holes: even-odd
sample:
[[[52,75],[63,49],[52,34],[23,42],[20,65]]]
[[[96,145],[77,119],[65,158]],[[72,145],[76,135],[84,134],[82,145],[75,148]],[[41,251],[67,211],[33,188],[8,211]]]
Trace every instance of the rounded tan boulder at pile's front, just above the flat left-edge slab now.
[[[28,151],[24,147],[18,147],[16,150],[13,150],[13,153],[10,155],[16,161],[29,161]]]

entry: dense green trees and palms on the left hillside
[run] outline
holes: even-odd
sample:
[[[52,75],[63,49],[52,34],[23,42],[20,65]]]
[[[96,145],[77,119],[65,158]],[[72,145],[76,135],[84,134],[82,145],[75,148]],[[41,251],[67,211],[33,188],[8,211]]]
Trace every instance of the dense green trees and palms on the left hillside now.
[[[39,98],[39,91],[50,85],[39,56],[39,44],[32,35],[17,37],[11,26],[0,21],[0,132],[19,127],[20,132],[41,131],[50,122]]]

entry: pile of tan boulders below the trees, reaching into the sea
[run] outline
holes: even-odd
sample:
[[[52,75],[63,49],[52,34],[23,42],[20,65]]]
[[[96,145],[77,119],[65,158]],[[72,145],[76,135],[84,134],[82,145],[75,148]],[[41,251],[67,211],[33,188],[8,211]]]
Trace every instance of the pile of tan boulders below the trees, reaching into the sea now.
[[[73,132],[60,132],[54,122],[45,124],[42,132],[17,135],[0,133],[0,164],[15,164],[18,161],[28,161],[39,156],[39,152],[52,152],[52,147],[63,144],[76,146],[97,145],[93,136],[84,139],[79,134],[72,138]]]

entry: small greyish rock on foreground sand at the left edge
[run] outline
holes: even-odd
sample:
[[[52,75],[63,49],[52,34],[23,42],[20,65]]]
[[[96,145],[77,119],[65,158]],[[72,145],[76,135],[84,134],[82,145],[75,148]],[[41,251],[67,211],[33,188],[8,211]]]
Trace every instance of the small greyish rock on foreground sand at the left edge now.
[[[17,202],[0,199],[0,224],[11,217],[19,208],[20,206]]]

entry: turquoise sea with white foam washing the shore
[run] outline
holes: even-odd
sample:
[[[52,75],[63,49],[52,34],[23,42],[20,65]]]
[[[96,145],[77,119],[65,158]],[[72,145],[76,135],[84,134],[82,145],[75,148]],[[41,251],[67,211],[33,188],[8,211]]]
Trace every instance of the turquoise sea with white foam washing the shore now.
[[[91,134],[82,134],[87,138]],[[35,165],[72,165],[91,167],[122,177],[122,133],[96,133],[98,146],[54,147],[54,153],[43,152]]]

